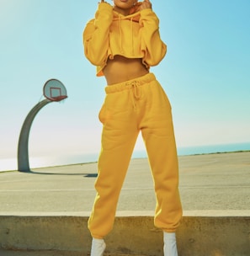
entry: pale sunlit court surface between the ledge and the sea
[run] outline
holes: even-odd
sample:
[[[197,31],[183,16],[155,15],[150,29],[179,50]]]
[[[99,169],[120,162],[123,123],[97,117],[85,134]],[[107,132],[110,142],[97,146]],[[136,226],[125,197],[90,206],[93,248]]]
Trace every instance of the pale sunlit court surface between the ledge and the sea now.
[[[97,163],[0,173],[0,214],[91,211]],[[250,152],[179,157],[184,211],[250,210]],[[117,211],[154,211],[152,174],[146,158],[132,159]]]

